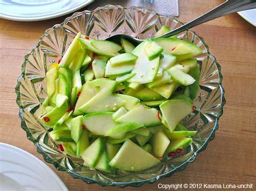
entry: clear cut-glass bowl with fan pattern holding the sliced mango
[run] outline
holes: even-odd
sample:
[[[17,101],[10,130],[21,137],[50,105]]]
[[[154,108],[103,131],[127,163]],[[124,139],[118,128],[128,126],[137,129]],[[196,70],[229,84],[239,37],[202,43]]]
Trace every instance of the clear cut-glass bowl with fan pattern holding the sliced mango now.
[[[160,164],[141,172],[117,171],[116,174],[105,173],[84,167],[82,159],[73,158],[59,150],[49,137],[49,129],[33,115],[46,97],[45,74],[52,62],[62,58],[76,33],[97,39],[105,39],[112,34],[125,33],[139,39],[150,38],[167,25],[170,29],[182,25],[175,17],[158,15],[155,11],[141,8],[106,5],[94,11],[76,12],[45,31],[38,44],[25,55],[22,74],[16,86],[19,117],[22,129],[41,153],[46,162],[53,164],[59,171],[69,173],[75,179],[86,183],[98,183],[101,186],[134,186],[153,183],[159,178],[171,176],[182,171],[188,163],[194,161],[199,152],[205,150],[207,144],[214,139],[218,129],[219,117],[223,114],[225,104],[224,89],[221,86],[223,76],[220,65],[203,38],[193,31],[178,34],[178,38],[189,40],[203,49],[197,56],[200,65],[199,91],[194,105],[196,110],[188,115],[183,124],[189,130],[197,130],[193,144],[182,154],[169,157]]]

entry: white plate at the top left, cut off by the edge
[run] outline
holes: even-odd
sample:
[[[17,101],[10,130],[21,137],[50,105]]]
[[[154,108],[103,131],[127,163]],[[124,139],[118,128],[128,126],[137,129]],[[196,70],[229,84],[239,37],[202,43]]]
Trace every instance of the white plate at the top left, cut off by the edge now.
[[[56,18],[83,8],[94,0],[0,0],[0,18],[36,21]]]

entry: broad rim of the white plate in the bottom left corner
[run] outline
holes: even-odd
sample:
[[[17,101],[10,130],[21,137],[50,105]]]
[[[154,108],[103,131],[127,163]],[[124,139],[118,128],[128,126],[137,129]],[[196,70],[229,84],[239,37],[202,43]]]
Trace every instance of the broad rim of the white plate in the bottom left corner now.
[[[68,190],[50,167],[21,148],[0,143],[0,153],[0,174],[17,181],[26,190]]]

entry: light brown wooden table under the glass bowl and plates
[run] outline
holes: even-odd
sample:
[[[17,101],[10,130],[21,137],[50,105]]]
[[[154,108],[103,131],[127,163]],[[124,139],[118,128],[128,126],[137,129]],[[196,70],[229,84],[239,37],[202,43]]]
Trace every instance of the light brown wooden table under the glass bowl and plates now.
[[[188,22],[221,2],[180,0],[179,19]],[[41,154],[36,152],[35,146],[26,139],[25,131],[20,127],[15,86],[21,74],[23,56],[36,45],[46,29],[61,23],[64,18],[30,23],[0,19],[0,141],[22,148],[41,160]],[[255,189],[256,28],[233,13],[195,27],[194,31],[204,37],[222,67],[227,103],[220,119],[220,128],[214,141],[185,171],[140,188],[158,189],[158,183],[253,183]],[[86,185],[49,166],[70,190],[103,189],[98,185]]]

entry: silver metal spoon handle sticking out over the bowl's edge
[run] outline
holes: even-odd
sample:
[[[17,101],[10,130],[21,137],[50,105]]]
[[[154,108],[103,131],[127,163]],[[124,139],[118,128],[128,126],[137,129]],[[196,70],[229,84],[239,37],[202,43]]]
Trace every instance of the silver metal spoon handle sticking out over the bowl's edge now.
[[[213,20],[215,18],[219,18],[225,15],[228,15],[233,12],[243,11],[247,9],[254,9],[256,8],[256,0],[230,0],[226,1],[223,4],[220,4],[216,8],[212,9],[211,11],[206,12],[204,15],[199,16],[198,18],[192,20],[185,25],[178,27],[166,34],[158,36],[157,38],[163,37],[171,37],[175,34],[178,34],[182,31],[191,29],[194,26],[200,25],[202,23],[208,22],[209,20]]]

